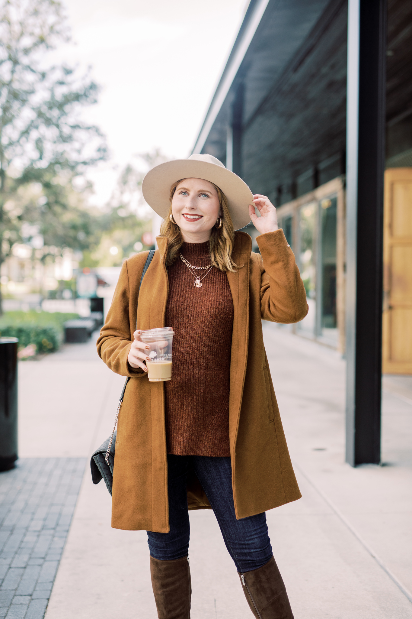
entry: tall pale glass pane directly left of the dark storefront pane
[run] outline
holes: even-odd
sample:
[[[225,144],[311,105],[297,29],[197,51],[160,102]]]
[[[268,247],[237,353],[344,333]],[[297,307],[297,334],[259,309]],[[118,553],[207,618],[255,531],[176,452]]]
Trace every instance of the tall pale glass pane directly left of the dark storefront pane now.
[[[316,319],[316,270],[314,263],[314,232],[316,224],[317,203],[305,204],[300,209],[300,274],[305,285],[309,311],[300,323],[300,329],[314,333]]]

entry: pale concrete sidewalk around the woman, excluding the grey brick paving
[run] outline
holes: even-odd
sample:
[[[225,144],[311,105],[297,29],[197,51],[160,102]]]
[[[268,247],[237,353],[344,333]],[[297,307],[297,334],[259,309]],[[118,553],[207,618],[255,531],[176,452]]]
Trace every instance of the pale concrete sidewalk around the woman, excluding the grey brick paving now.
[[[412,619],[411,379],[384,379],[384,466],[352,469],[344,463],[344,361],[269,323],[264,337],[303,495],[267,513],[295,619]],[[19,371],[20,457],[90,457],[112,430],[124,379],[93,342]],[[47,619],[156,618],[146,534],[111,529],[110,510],[86,462]],[[251,617],[212,512],[192,511],[190,521],[191,617]]]

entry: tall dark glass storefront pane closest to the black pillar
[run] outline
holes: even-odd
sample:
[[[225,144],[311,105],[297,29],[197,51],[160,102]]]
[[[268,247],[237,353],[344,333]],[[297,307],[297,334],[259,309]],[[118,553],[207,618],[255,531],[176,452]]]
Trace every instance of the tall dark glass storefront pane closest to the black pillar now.
[[[321,333],[337,335],[336,319],[336,224],[337,198],[321,200]]]

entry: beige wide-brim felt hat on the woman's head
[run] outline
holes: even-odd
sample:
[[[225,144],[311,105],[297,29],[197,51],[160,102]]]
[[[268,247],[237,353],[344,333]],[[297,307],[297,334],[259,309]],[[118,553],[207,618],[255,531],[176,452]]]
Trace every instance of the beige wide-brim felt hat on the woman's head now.
[[[170,208],[170,187],[181,178],[203,178],[219,187],[227,197],[235,230],[250,222],[249,204],[253,204],[253,194],[242,178],[212,155],[190,155],[188,159],[161,163],[146,174],[141,185],[143,197],[162,219]]]

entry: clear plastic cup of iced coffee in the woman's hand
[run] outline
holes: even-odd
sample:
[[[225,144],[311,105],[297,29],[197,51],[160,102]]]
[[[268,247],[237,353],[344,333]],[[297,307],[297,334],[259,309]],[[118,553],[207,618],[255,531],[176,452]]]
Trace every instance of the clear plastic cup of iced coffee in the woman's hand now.
[[[162,383],[172,379],[172,344],[175,332],[172,327],[146,329],[141,332],[140,339],[150,346],[146,361],[148,377],[151,383]]]

